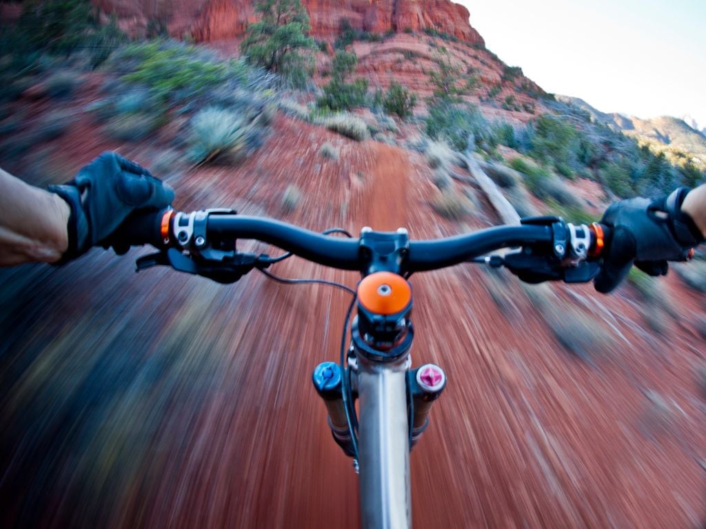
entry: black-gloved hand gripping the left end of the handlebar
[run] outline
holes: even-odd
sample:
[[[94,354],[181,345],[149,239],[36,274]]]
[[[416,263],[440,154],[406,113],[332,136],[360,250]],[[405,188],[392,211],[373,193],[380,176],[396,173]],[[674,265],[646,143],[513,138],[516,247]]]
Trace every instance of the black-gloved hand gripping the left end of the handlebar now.
[[[115,152],[104,152],[63,186],[49,186],[68,202],[68,250],[61,262],[74,259],[95,245],[112,245],[125,253],[129,245],[110,241],[129,214],[167,207],[174,190],[150,171]]]

